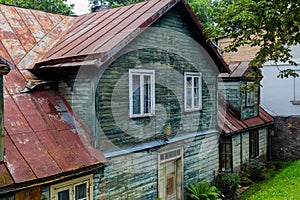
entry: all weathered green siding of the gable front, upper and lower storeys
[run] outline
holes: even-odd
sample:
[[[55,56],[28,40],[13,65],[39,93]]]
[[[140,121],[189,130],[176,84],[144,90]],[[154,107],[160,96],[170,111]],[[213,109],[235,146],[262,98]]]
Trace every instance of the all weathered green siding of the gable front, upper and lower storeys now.
[[[112,63],[98,71],[82,67],[76,81],[66,78],[60,84],[76,114],[93,130],[95,145],[106,155],[163,141],[169,128],[170,139],[197,135],[177,141],[184,147],[184,185],[213,180],[219,167],[217,68],[204,48],[189,37],[192,35],[180,11],[173,9]],[[133,68],[155,70],[154,117],[129,118],[128,71]],[[94,76],[89,82],[91,72]],[[184,112],[184,72],[202,73],[201,111]],[[94,198],[155,199],[157,148],[109,158],[104,171],[94,175]]]

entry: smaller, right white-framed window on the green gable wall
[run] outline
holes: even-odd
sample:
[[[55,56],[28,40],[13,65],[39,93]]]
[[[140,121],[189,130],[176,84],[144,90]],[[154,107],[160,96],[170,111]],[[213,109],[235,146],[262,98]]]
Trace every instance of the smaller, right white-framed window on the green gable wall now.
[[[185,111],[202,109],[202,80],[200,73],[184,74],[184,108]]]

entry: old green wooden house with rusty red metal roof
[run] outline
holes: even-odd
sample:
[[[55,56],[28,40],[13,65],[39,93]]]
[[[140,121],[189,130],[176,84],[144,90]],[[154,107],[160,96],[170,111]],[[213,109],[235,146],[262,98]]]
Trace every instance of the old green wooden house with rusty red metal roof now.
[[[240,92],[248,68],[227,74],[186,1],[0,10],[1,73],[15,68],[3,78],[1,198],[184,199],[187,184],[267,155],[272,118],[259,89]]]

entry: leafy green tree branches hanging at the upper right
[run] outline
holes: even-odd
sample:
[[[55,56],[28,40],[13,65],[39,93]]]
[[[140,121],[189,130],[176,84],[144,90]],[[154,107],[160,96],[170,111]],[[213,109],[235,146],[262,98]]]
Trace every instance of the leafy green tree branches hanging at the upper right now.
[[[292,61],[290,46],[300,42],[299,0],[233,0],[216,17],[214,36],[228,35],[233,39],[227,51],[243,45],[259,46],[250,62],[257,73],[265,62]],[[257,74],[254,74],[257,75]],[[278,77],[298,76],[292,70],[281,71]]]

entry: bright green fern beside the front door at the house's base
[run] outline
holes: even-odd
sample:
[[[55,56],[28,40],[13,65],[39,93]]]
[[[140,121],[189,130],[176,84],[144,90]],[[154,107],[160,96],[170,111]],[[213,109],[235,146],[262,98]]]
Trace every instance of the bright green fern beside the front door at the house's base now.
[[[220,196],[220,191],[207,180],[189,184],[186,190],[191,200],[216,200]]]

